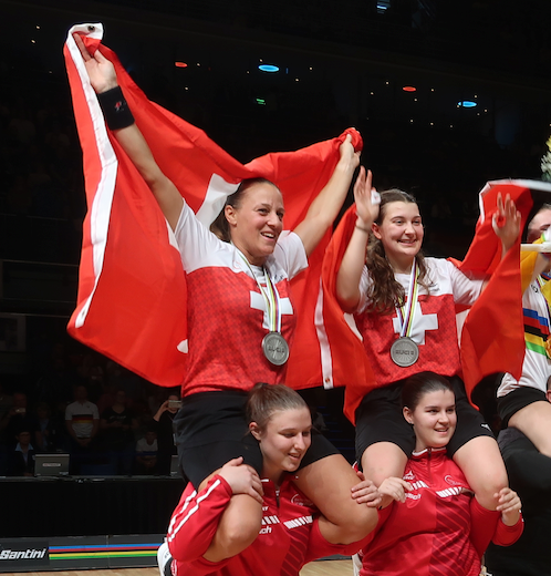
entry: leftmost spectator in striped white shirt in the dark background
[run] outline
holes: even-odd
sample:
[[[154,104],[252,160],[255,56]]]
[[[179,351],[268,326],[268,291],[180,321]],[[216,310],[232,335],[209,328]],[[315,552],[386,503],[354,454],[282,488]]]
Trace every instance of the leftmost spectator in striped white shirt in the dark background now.
[[[100,429],[97,407],[87,399],[84,385],[74,389],[74,402],[65,409],[65,426],[70,436],[71,474],[81,473],[81,464],[91,461]]]

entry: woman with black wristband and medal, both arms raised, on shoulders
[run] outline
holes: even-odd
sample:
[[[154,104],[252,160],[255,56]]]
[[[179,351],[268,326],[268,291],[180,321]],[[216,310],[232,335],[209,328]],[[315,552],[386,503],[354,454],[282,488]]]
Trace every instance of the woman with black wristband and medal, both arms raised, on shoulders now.
[[[175,419],[184,472],[198,490],[232,457],[242,455],[246,464],[260,472],[258,445],[249,439],[243,446],[247,392],[259,381],[284,381],[294,327],[289,280],[308,266],[308,255],[341,208],[360,162],[358,153],[347,136],[328,185],[290,234],[282,234],[280,191],[263,179],[243,182],[223,210],[231,240],[225,243],[196,219],[160,172],[133,123],[111,62],[100,51],[91,56],[79,35],[75,41],[114,136],[175,233],[187,275],[188,369],[183,408]],[[335,542],[361,539],[376,524],[375,512],[357,506],[350,497],[357,479],[323,436],[315,435],[297,476],[300,490],[340,527]],[[245,549],[257,537],[261,517],[259,502],[247,494],[233,495],[221,520],[228,531],[221,534],[238,527],[237,536],[217,548],[221,556],[209,559],[218,562]]]

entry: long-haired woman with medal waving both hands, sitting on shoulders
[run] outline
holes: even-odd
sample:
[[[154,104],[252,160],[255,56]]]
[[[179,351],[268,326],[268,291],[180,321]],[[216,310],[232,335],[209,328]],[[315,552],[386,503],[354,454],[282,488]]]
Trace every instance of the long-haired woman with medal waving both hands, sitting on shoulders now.
[[[402,384],[432,370],[451,379],[457,399],[459,424],[448,454],[480,503],[491,510],[493,494],[507,485],[507,473],[491,431],[470,407],[458,376],[455,310],[456,305],[471,306],[484,282],[467,278],[447,260],[423,257],[423,220],[409,194],[392,189],[381,194],[381,204],[372,202],[371,174],[362,169],[354,196],[357,220],[337,272],[336,296],[345,312],[354,312],[377,387],[355,412],[363,472],[377,485],[402,476],[414,448],[402,418]],[[499,197],[493,230],[503,254],[516,243],[519,228],[514,204]]]

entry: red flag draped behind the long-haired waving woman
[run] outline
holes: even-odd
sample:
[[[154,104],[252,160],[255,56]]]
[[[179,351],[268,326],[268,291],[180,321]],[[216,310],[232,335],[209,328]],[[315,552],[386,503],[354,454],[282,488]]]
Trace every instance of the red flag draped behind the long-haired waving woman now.
[[[521,213],[523,226],[532,208],[534,191],[544,187],[551,191],[549,184],[529,181],[488,183],[480,192],[480,218],[472,244],[465,260],[455,263],[465,274],[491,274],[461,330],[461,376],[469,398],[486,376],[510,372],[520,378],[524,357],[519,247],[513,247],[501,259],[501,245],[491,226],[498,193],[503,197],[510,194]],[[352,422],[364,395],[377,385],[354,319],[342,311],[335,296],[336,272],[355,220],[355,207],[352,206],[328,247],[322,270],[322,304],[316,316],[323,382],[326,388],[346,385],[344,410]]]

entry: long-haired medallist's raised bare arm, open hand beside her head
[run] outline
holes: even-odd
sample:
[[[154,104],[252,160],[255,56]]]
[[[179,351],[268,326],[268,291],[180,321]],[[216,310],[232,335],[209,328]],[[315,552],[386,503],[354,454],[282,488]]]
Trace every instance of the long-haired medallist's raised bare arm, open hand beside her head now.
[[[336,298],[345,312],[360,302],[360,279],[372,224],[378,217],[378,204],[372,203],[372,173],[362,166],[354,184],[357,220],[336,276]]]

